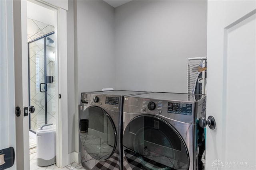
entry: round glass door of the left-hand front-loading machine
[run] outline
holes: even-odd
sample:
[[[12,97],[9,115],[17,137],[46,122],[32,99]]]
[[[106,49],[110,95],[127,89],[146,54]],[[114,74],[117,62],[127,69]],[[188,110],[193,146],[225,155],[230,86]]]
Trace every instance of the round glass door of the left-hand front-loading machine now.
[[[83,156],[88,153],[96,160],[106,160],[116,148],[117,133],[111,117],[100,107],[88,107],[81,117],[86,125],[80,122],[80,141],[83,145]],[[81,131],[81,128],[82,131]]]

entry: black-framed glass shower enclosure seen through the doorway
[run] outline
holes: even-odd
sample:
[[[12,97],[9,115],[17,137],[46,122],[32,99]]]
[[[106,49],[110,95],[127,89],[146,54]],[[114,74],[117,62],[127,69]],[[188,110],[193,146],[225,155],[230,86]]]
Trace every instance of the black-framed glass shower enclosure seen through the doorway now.
[[[45,124],[56,124],[54,32],[28,42],[30,131]]]

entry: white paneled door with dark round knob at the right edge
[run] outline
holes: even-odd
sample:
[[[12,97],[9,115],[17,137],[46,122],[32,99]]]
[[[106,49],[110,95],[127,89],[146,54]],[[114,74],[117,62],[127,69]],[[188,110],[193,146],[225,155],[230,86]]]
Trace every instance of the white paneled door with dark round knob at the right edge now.
[[[208,1],[206,170],[256,169],[256,1]]]

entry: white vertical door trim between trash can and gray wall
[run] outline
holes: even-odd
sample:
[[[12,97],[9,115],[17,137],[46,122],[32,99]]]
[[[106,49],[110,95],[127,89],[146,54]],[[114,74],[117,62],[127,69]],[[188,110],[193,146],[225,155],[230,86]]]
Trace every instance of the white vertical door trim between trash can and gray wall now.
[[[58,10],[58,67],[59,67],[59,114],[56,122],[56,158],[57,166],[63,168],[68,165],[68,78],[67,78],[67,11]]]

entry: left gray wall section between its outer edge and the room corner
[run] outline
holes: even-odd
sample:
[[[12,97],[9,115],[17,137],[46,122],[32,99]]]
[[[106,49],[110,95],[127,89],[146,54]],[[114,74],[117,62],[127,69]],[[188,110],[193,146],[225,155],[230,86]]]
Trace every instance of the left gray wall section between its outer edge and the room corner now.
[[[77,1],[78,94],[112,87],[115,78],[114,8]]]

